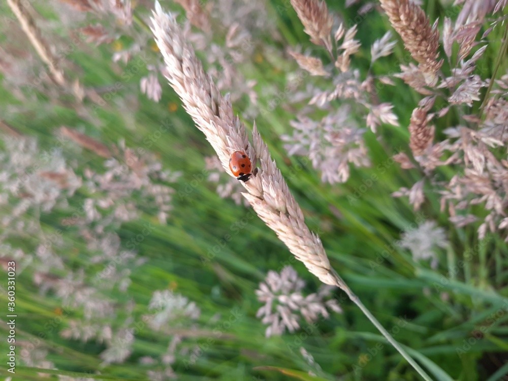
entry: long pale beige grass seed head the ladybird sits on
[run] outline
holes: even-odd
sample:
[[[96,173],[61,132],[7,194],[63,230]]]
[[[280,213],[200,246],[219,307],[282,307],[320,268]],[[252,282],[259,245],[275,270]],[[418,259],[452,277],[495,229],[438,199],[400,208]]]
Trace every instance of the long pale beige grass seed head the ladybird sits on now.
[[[165,76],[180,96],[187,113],[217,152],[223,168],[234,176],[229,170],[229,157],[236,150],[245,151],[253,167],[259,158],[261,168],[257,174],[248,182],[241,182],[247,190],[243,195],[312,274],[324,283],[336,285],[321,240],[305,225],[303,213],[256,126],[253,145],[250,145],[245,126],[234,116],[229,97],[223,97],[205,74],[193,47],[184,40],[175,17],[164,13],[156,2],[151,20],[155,41],[166,63]]]

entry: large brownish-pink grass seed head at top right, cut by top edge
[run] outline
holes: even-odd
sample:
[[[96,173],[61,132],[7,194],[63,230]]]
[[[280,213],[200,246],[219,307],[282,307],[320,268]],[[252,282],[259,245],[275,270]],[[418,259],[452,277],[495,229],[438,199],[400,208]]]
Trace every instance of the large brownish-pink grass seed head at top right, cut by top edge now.
[[[381,6],[390,18],[390,23],[404,41],[411,56],[420,63],[420,70],[426,82],[434,86],[436,73],[443,60],[437,60],[439,53],[439,31],[431,27],[423,9],[409,0],[380,0]]]

